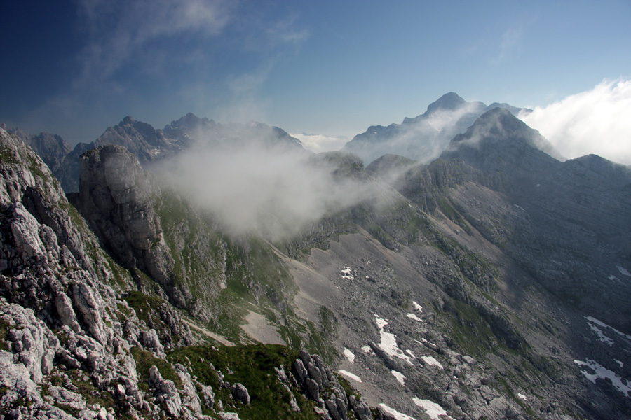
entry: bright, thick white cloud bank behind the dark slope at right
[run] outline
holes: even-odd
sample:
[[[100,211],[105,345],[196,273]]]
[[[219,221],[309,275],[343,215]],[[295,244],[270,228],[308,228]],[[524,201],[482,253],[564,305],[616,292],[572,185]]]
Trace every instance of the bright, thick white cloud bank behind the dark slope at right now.
[[[567,158],[595,154],[631,165],[631,80],[604,80],[520,118]]]

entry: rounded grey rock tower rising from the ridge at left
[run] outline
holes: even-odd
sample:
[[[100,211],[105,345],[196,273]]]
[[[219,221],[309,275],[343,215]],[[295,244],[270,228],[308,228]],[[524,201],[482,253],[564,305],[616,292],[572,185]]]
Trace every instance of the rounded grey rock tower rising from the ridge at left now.
[[[123,267],[140,269],[168,288],[185,307],[184,297],[172,290],[173,259],[151,202],[149,177],[137,158],[121,146],[90,151],[83,155],[79,181],[74,202],[105,248]]]

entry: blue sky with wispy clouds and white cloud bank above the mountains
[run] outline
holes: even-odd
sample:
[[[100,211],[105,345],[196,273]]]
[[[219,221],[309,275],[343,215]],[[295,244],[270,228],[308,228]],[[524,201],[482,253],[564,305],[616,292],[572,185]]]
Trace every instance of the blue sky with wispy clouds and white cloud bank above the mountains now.
[[[631,165],[631,122],[608,116],[631,115],[628,0],[22,0],[0,16],[0,122],[70,144],[193,112],[334,150],[456,92],[535,109],[569,158]]]

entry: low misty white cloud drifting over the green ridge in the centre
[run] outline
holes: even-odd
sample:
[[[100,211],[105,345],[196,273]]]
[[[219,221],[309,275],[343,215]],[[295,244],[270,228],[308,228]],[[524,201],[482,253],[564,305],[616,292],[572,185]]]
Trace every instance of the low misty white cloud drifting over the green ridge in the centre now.
[[[365,197],[367,184],[336,178],[321,163],[299,148],[214,144],[165,162],[161,174],[227,232],[284,239]]]

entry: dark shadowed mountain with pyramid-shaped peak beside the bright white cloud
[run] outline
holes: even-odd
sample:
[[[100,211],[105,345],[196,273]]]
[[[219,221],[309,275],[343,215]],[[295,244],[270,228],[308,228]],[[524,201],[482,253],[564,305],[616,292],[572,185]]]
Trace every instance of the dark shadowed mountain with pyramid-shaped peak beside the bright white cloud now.
[[[631,171],[595,155],[560,162],[542,150],[550,146],[536,130],[495,109],[441,158],[479,169],[482,183],[524,209],[531,228],[517,235],[530,239],[509,241],[507,250],[544,287],[628,330],[631,290],[616,267],[631,255],[631,218],[622,216],[631,211]]]

